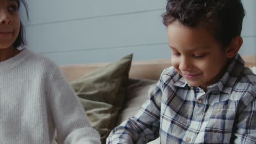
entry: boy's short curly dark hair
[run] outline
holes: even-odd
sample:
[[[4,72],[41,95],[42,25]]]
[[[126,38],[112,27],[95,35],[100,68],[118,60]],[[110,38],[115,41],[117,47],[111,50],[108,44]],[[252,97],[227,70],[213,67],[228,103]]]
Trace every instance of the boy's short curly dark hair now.
[[[235,36],[241,35],[244,15],[241,0],[167,0],[162,18],[165,26],[176,20],[190,27],[199,22],[210,24],[214,37],[227,47]]]

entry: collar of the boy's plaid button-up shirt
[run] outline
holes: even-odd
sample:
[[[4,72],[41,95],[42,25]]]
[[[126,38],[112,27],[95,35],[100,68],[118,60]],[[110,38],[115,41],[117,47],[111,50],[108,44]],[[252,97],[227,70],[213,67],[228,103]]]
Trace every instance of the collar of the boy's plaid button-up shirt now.
[[[237,77],[241,74],[241,71],[244,67],[244,60],[241,58],[239,54],[231,59],[229,66],[226,69],[226,72],[223,74],[221,79],[210,86],[208,89],[214,89],[214,87],[218,86],[218,89],[222,92],[231,93],[231,90],[237,80]],[[185,87],[189,86],[186,79],[184,77],[180,77],[177,82],[174,83],[174,86]]]

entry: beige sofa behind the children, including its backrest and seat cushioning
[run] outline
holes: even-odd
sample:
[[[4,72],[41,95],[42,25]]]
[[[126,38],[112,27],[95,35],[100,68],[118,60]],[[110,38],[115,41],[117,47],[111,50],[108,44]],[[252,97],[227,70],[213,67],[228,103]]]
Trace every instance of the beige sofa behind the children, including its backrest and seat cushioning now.
[[[243,56],[246,66],[256,66],[256,56]],[[95,69],[102,68],[108,63],[92,63],[83,65],[61,66],[68,81],[81,77]],[[126,87],[126,97],[116,125],[127,117],[133,116],[148,97],[148,90],[154,85],[164,68],[170,67],[170,59],[133,61],[129,73],[129,84]],[[150,143],[159,143],[159,139]]]

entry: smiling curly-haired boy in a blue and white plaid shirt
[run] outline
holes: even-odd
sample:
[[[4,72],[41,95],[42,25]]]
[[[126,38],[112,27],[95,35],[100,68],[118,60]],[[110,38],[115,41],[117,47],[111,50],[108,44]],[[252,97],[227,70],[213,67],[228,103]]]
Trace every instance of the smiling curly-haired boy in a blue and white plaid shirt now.
[[[256,76],[237,53],[239,0],[169,0],[172,51],[149,99],[107,143],[256,143]]]

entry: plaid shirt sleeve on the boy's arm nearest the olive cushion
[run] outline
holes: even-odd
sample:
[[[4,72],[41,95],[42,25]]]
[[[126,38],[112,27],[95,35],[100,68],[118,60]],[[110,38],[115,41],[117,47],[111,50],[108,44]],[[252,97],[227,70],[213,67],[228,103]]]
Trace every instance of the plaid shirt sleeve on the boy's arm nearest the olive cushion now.
[[[111,131],[107,143],[147,143],[158,138],[161,100],[161,81],[158,81],[137,114]]]

